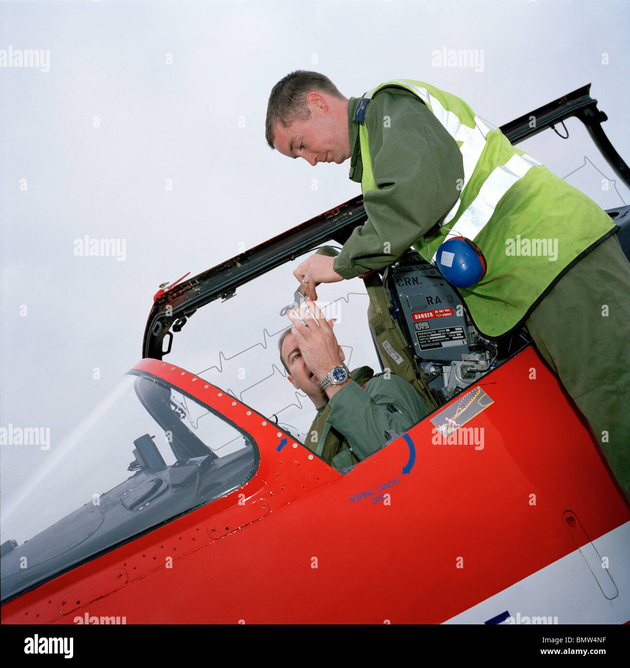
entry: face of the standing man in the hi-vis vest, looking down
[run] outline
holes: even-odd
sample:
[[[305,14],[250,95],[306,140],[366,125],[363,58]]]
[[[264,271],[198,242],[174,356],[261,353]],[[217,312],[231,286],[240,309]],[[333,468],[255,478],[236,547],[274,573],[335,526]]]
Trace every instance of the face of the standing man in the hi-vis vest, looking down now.
[[[317,93],[307,100],[308,120],[295,121],[288,128],[275,124],[275,149],[289,158],[304,158],[313,166],[318,162],[341,164],[351,155],[347,112],[343,106],[329,106]]]

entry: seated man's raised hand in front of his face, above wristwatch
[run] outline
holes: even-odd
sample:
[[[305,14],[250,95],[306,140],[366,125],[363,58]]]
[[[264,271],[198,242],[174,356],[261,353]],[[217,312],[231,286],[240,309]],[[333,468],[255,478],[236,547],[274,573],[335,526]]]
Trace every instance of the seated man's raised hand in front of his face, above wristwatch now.
[[[300,347],[304,363],[321,381],[333,367],[343,361],[339,355],[339,343],[333,334],[334,320],[327,321],[310,299],[287,315],[293,323],[291,333]]]

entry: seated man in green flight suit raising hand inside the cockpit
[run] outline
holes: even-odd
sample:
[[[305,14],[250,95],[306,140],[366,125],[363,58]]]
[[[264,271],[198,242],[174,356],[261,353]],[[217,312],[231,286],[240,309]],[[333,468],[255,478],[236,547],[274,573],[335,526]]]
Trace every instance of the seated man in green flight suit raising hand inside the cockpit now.
[[[327,321],[313,301],[288,315],[293,327],[280,337],[280,359],[289,382],[317,408],[305,445],[328,464],[356,464],[428,414],[420,394],[397,375],[374,376],[369,367],[350,375],[334,321]]]

